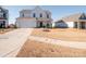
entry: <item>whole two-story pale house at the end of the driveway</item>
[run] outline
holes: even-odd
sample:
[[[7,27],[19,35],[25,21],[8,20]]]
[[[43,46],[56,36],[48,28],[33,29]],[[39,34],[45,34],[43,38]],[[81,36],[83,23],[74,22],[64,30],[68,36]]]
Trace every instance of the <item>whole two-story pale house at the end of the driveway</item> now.
[[[16,27],[33,28],[51,26],[51,12],[36,7],[34,10],[20,11],[20,17],[16,18]]]

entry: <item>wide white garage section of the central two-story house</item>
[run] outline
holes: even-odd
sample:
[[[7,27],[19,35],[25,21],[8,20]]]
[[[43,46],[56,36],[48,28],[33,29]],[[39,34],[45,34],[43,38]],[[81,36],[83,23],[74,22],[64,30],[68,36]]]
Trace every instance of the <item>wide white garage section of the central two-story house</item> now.
[[[36,18],[28,18],[28,17],[19,17],[16,20],[16,27],[20,28],[34,28],[36,27]]]

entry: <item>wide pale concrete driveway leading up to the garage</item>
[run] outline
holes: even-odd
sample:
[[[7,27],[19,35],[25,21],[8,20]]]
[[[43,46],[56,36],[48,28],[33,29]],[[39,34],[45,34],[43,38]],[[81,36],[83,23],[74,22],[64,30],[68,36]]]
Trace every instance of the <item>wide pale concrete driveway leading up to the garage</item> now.
[[[16,56],[33,28],[19,28],[0,35],[0,56]]]

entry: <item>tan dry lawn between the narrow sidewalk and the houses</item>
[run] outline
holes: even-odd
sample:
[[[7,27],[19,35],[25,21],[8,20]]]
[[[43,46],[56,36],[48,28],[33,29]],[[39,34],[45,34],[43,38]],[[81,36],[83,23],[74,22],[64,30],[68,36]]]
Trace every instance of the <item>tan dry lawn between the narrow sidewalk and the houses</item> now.
[[[44,31],[42,29],[35,28],[32,33],[33,36],[54,38],[66,41],[85,41],[86,30],[74,28],[53,28],[50,31]]]

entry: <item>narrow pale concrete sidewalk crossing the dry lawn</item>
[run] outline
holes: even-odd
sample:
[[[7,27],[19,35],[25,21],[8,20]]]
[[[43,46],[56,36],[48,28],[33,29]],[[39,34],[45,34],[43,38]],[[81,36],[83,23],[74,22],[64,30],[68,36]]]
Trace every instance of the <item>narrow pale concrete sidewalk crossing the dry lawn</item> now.
[[[37,36],[30,36],[29,39],[41,41],[41,42],[47,42],[47,43],[52,43],[52,44],[59,44],[59,46],[63,46],[63,47],[70,47],[70,48],[76,48],[76,49],[86,49],[86,42],[62,41],[62,40],[58,40],[58,39],[37,37]]]

